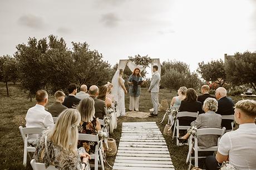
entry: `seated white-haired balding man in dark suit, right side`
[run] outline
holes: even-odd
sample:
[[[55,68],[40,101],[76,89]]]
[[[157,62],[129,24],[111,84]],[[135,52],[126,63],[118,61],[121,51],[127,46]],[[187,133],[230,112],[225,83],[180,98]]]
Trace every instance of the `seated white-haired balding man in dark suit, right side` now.
[[[227,97],[227,91],[223,87],[219,87],[215,91],[216,99],[218,100],[218,111],[216,113],[220,115],[234,114],[234,102],[231,98]],[[221,126],[227,130],[232,129],[232,120],[223,120]]]

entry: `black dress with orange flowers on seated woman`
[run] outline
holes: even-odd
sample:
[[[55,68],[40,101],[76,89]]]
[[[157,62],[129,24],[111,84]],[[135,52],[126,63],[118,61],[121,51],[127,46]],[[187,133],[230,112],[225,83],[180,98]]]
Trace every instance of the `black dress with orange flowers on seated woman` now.
[[[97,134],[96,118],[93,118],[92,122],[80,122],[78,132],[85,134]],[[96,145],[97,143],[92,141],[78,141],[77,147],[83,147],[88,154],[94,154]]]

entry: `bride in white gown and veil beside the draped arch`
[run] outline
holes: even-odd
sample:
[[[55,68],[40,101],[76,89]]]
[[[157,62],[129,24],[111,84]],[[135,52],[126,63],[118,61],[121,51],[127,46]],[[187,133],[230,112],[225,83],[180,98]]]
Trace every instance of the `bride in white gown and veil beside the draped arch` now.
[[[117,104],[117,117],[125,116],[125,94],[127,93],[125,88],[125,80],[122,78],[124,71],[117,69],[114,77],[112,78],[113,84],[113,96]]]

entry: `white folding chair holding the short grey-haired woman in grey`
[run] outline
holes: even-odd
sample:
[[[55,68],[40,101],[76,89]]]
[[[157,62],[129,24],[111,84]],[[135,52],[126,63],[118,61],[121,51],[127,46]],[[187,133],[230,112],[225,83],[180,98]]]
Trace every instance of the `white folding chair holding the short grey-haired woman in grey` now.
[[[208,134],[213,134],[213,135],[219,135],[220,137],[218,138],[218,142],[216,143],[216,146],[212,146],[209,148],[202,149],[200,146],[198,146],[198,138],[190,135],[189,137],[189,152],[188,156],[186,157],[186,163],[189,162],[189,169],[191,168],[191,161],[192,159],[195,159],[195,167],[198,167],[198,159],[199,158],[206,158],[206,157],[199,157],[198,152],[203,152],[203,151],[217,151],[218,150],[218,144],[221,136],[225,133],[226,128],[223,127],[222,129],[219,128],[204,128],[204,129],[198,129],[196,131],[197,136],[200,135],[208,135]],[[192,157],[191,153],[194,151],[195,156]]]

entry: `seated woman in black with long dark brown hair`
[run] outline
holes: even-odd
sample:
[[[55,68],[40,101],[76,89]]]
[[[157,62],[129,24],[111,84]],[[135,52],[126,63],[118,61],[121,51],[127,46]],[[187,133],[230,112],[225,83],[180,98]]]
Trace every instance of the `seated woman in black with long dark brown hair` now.
[[[199,112],[199,114],[203,113],[202,104],[196,100],[197,98],[198,96],[196,95],[195,90],[193,88],[189,88],[186,91],[186,97],[180,103],[179,112]],[[180,125],[188,126],[196,118],[179,117],[178,119]]]

